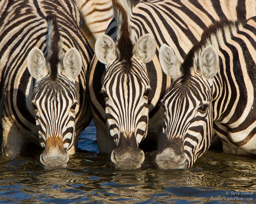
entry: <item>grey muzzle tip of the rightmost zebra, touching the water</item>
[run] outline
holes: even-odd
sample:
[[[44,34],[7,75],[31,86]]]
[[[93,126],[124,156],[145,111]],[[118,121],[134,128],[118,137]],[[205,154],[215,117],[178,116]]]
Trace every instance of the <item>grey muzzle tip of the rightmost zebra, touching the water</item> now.
[[[171,148],[166,148],[156,155],[156,164],[160,169],[178,169],[188,166],[185,154],[177,153]]]

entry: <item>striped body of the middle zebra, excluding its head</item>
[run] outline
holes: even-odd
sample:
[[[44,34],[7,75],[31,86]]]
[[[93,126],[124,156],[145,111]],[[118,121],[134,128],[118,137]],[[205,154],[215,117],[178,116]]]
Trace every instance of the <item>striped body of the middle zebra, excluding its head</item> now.
[[[239,1],[238,3],[225,1],[219,5],[214,0],[208,3],[205,3],[205,1],[161,0],[133,1],[130,7],[126,3],[122,3],[122,5],[129,14],[132,39],[136,42],[141,36],[149,33],[156,41],[156,55],[146,65],[146,73],[151,89],[148,97],[149,114],[147,115],[147,120],[149,122],[147,126],[142,128],[141,132],[147,132],[149,136],[156,137],[159,150],[164,140],[162,136],[164,112],[159,103],[171,84],[171,78],[162,72],[159,63],[158,53],[160,46],[162,43],[172,46],[177,58],[183,61],[190,48],[200,40],[203,30],[207,26],[223,18],[236,20],[237,18],[245,19],[255,15],[255,9],[251,9],[252,7],[255,8],[255,1]],[[117,17],[115,16],[115,18]],[[116,32],[116,20],[113,19],[111,21],[106,31],[106,34],[112,39],[119,37],[119,33]],[[111,152],[120,145],[117,132],[109,131],[111,137],[106,134],[106,124],[107,129],[111,130],[112,128],[109,124],[111,125],[112,122],[110,116],[108,117],[105,114],[104,98],[100,94],[102,82],[107,77],[105,73],[105,66],[94,57],[89,70],[88,83],[92,114],[97,129],[97,143],[100,152]],[[114,79],[115,77],[115,73],[112,72],[112,78]],[[118,79],[116,77],[116,80]],[[115,83],[121,84],[121,81],[116,81]],[[140,89],[139,86],[136,90],[141,92],[142,97],[144,90]],[[119,100],[119,98],[116,97],[115,100]],[[133,100],[132,97],[131,100]],[[121,112],[121,107],[119,110]],[[128,123],[129,120],[130,118]],[[148,129],[146,130],[145,128],[147,127]],[[129,143],[135,147],[139,145],[143,138],[143,134],[138,134],[135,139],[130,139]],[[115,139],[116,143],[114,142]]]

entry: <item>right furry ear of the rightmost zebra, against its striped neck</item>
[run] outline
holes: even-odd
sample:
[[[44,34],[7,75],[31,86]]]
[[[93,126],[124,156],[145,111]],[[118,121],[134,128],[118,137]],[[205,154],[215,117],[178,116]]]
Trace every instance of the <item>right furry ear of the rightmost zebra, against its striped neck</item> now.
[[[199,59],[199,71],[207,79],[217,74],[219,68],[219,55],[214,46],[207,46]]]

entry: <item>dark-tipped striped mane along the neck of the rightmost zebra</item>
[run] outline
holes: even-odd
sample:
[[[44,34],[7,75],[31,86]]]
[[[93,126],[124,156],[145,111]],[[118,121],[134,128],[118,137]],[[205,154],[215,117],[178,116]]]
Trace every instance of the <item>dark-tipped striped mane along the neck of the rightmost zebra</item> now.
[[[181,64],[181,72],[183,73],[183,82],[187,81],[191,76],[191,69],[194,65],[197,67],[198,59],[201,55],[201,52],[208,45],[213,45],[216,49],[223,43],[222,39],[226,38],[227,35],[231,36],[232,31],[238,29],[239,24],[244,24],[246,21],[229,21],[223,19],[217,21],[216,23],[210,25],[206,28],[201,36],[201,40],[195,44],[191,50],[186,55],[184,62]]]

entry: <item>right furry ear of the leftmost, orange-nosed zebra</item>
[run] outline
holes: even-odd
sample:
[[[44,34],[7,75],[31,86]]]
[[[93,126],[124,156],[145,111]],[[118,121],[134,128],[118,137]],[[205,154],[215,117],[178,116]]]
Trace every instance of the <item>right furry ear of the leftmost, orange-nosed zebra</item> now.
[[[70,48],[63,59],[63,66],[66,77],[74,80],[81,72],[82,58],[76,48]]]

